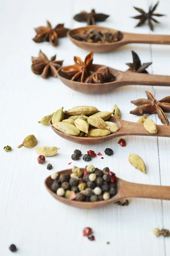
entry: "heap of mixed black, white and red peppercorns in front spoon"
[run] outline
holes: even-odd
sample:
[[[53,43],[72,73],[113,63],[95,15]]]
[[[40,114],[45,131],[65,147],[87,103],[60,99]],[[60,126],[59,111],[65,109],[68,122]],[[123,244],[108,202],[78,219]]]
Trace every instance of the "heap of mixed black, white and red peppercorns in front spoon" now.
[[[51,190],[69,200],[95,202],[116,195],[116,176],[108,167],[100,170],[89,164],[83,170],[74,166],[71,175],[55,172],[51,179]]]

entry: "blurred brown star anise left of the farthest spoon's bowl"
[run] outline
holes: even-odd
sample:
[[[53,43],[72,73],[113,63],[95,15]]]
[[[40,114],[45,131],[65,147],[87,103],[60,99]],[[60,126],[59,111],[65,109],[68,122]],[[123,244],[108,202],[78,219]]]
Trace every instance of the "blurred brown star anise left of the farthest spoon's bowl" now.
[[[52,29],[51,23],[47,21],[47,26],[40,26],[35,28],[37,35],[33,38],[34,42],[50,42],[53,46],[58,43],[58,38],[65,37],[69,29],[64,27],[64,24],[58,24]]]

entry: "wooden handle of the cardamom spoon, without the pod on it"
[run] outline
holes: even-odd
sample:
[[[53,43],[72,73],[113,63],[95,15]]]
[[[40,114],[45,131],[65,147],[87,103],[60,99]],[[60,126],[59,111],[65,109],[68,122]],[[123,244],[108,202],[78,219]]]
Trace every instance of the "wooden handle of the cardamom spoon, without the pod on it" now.
[[[170,137],[170,125],[156,125],[157,133],[151,134],[145,128],[143,124],[136,122],[128,122],[125,120],[119,120],[121,123],[121,129],[117,132],[119,135],[138,135],[138,136],[154,136],[154,137]],[[120,134],[121,133],[121,134]]]

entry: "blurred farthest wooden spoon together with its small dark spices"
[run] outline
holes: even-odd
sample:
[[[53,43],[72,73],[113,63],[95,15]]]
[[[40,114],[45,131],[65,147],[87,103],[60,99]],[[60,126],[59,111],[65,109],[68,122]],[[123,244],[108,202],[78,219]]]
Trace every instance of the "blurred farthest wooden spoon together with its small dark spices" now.
[[[93,52],[111,52],[132,43],[170,44],[170,35],[133,34],[96,25],[71,29],[67,35],[78,47]]]

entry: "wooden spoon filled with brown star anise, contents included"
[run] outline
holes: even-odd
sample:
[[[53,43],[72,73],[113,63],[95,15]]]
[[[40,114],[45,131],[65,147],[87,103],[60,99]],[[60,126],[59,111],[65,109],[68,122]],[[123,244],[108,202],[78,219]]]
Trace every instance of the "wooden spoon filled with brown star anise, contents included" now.
[[[61,67],[57,70],[57,76],[63,84],[82,93],[108,93],[125,85],[170,86],[170,76],[147,74],[144,67],[147,68],[151,63],[142,65],[141,71],[144,73],[135,73],[130,69],[124,72],[92,62],[93,52],[85,57],[84,62],[75,56],[74,65]]]

